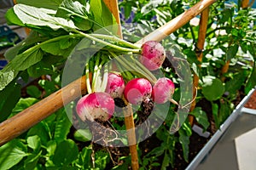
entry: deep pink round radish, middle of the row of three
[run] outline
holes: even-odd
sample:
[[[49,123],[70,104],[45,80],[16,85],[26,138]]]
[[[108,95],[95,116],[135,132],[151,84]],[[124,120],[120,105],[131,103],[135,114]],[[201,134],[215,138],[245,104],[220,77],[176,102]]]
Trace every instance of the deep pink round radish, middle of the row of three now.
[[[134,78],[125,86],[125,99],[133,105],[148,101],[152,94],[152,85],[145,78]]]

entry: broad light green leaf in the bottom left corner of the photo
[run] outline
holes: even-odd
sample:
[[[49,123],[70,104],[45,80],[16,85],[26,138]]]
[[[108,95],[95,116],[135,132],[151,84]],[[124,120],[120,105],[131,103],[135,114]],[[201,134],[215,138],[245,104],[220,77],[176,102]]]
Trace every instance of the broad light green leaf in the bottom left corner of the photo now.
[[[9,169],[19,163],[25,156],[26,147],[19,139],[13,139],[0,147],[0,169]]]

